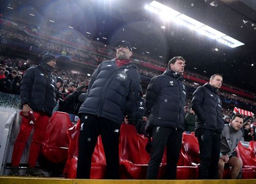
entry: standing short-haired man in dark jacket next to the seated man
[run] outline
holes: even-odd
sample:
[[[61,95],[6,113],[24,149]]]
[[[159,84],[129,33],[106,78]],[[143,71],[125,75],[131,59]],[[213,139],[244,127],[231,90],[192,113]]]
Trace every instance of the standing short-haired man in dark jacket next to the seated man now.
[[[222,85],[222,75],[214,74],[210,82],[193,93],[192,109],[196,113],[195,134],[200,148],[199,179],[217,179],[220,158],[222,103],[217,89]]]

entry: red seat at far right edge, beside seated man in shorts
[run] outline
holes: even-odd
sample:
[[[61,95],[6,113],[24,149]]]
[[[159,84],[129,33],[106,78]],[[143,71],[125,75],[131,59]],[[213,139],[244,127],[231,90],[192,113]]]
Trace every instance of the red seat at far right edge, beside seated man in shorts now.
[[[250,148],[244,147],[241,142],[238,144],[237,156],[242,161],[242,178],[256,178],[256,155]]]

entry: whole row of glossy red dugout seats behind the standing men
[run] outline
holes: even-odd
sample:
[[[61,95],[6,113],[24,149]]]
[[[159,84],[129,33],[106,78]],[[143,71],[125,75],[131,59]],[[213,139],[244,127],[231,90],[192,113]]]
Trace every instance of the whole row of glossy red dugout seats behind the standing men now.
[[[80,122],[73,126],[67,113],[55,112],[47,127],[46,139],[42,144],[42,154],[52,163],[65,163],[63,174],[66,178],[76,178],[78,155],[78,138]],[[145,179],[150,154],[146,152],[148,139],[137,134],[136,128],[130,124],[122,124],[119,140],[120,179]],[[238,157],[241,159],[242,178],[256,178],[256,142],[251,141],[249,148],[239,143]],[[177,179],[198,179],[199,176],[199,144],[194,134],[183,134],[180,159],[177,167]],[[166,151],[160,164],[158,178],[165,175]],[[224,178],[228,178],[229,168],[224,170]],[[92,155],[91,178],[104,179],[106,161],[101,137],[98,137]]]

